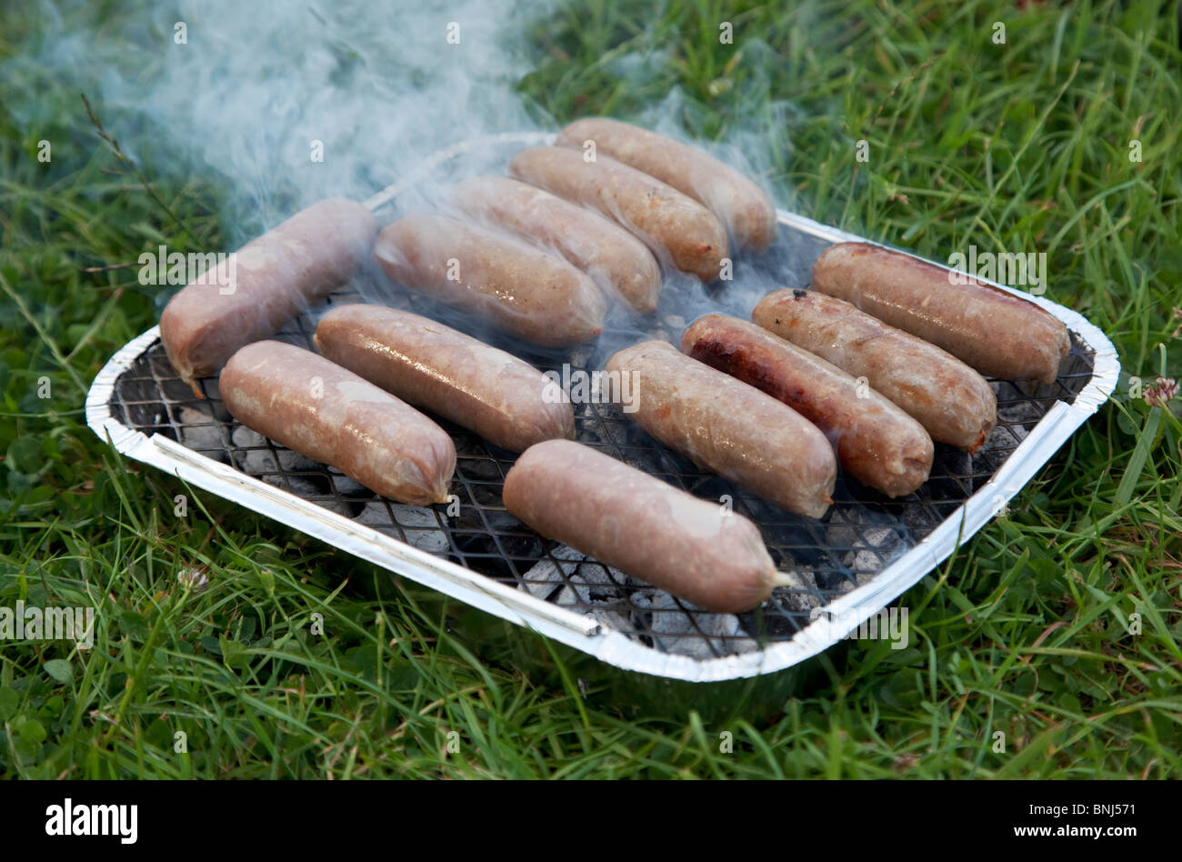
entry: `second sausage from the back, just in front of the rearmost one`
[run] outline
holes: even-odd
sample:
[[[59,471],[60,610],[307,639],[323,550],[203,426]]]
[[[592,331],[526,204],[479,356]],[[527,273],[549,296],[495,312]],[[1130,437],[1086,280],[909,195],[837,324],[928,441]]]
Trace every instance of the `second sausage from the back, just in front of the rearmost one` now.
[[[509,174],[598,209],[639,236],[655,254],[702,281],[716,279],[729,254],[726,228],[709,209],[610,156],[584,162],[569,147],[534,147],[513,157]]]

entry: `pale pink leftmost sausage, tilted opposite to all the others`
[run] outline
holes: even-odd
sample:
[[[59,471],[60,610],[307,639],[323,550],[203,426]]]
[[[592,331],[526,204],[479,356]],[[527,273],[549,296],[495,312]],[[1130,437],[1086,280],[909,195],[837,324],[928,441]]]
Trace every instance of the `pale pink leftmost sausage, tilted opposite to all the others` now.
[[[202,397],[197,377],[216,372],[235,350],[274,335],[332,292],[365,259],[376,235],[369,209],[331,197],[247,242],[234,253],[233,268],[227,260],[216,280],[206,273],[164,307],[160,338],[177,375]]]

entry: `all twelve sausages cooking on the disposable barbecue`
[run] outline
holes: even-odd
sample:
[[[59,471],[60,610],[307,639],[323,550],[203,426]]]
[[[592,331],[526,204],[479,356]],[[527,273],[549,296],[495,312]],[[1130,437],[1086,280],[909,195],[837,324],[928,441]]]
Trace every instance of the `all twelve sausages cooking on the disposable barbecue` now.
[[[453,201],[478,223],[415,215],[379,233],[352,201],[310,207],[238,252],[233,293],[181,291],[161,319],[165,350],[195,389],[225,364],[235,417],[400,501],[446,501],[455,468],[449,435],[416,408],[525,452],[504,488],[524,523],[701,607],[747,610],[781,579],[758,529],[571,442],[571,406],[520,358],[361,304],[320,319],[320,355],[266,341],[369,254],[410,289],[561,345],[599,333],[605,297],[655,309],[658,260],[710,280],[732,246],[774,239],[758,186],[683,144],[602,119],[558,143],[518,154],[515,179],[460,183]],[[812,287],[768,294],[751,322],[707,315],[681,350],[643,342],[605,367],[638,383],[632,419],[654,438],[811,517],[832,503],[838,464],[889,497],[914,492],[934,441],[974,452],[988,439],[982,372],[1053,381],[1069,346],[1035,305],[868,244],[829,248]]]

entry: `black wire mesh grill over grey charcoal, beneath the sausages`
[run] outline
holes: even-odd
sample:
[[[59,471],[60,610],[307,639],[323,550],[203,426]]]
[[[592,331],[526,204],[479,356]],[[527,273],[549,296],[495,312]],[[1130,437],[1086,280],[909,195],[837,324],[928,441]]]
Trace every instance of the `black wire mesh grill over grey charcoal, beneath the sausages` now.
[[[801,241],[816,245],[812,238]],[[804,259],[807,266],[824,245],[827,244],[808,249]],[[774,259],[771,265],[777,265]],[[799,272],[797,276],[786,280],[781,276],[779,284],[801,286]],[[372,273],[363,273],[277,337],[312,349],[316,320],[329,307],[372,298],[375,292],[383,292],[382,300],[387,304],[452,325],[461,323],[450,310],[378,285]],[[658,311],[658,320],[660,316]],[[611,325],[609,318],[605,332]],[[520,344],[496,343],[498,337],[487,331],[473,333],[524,356],[543,370],[559,370],[561,364],[556,364],[552,354],[528,355]],[[670,338],[668,330],[658,328],[649,336],[676,342],[680,332]],[[630,335],[629,339],[638,338]],[[606,358],[603,354],[615,346],[609,344],[590,352],[576,350],[563,361],[572,368],[598,369]],[[501,486],[515,454],[436,416],[433,419],[450,433],[457,453],[450,493],[459,498],[460,513],[454,517],[447,514],[447,506],[407,506],[377,497],[337,469],[235,422],[219,396],[217,380],[200,381],[206,397],[195,397],[176,376],[158,342],[119,376],[111,406],[112,414],[130,428],[148,435],[163,434],[407,544],[576,613],[590,614],[602,626],[654,649],[710,659],[791,640],[812,622],[810,614],[817,613],[813,609],[823,609],[836,597],[866,583],[923,539],[996,473],[1057,400],[1069,403],[1074,400],[1091,378],[1091,358],[1090,351],[1072,336],[1071,355],[1053,384],[1018,385],[991,380],[998,396],[998,427],[976,455],[969,458],[937,443],[929,480],[916,493],[896,500],[839,474],[834,505],[820,520],[792,514],[699,469],[656,442],[615,404],[574,406],[580,442],[604,449],[699,498],[721,500],[729,495],[734,511],[759,526],[777,565],[797,573],[795,585],[777,589],[762,608],[739,616],[696,609],[539,537],[513,518],[501,501]]]

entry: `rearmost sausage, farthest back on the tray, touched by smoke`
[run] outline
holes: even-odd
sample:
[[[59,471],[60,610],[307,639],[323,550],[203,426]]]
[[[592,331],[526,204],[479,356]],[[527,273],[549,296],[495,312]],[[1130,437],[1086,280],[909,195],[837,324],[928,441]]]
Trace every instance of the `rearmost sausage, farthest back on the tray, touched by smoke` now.
[[[558,134],[558,143],[582,148],[595,142],[606,154],[689,195],[719,216],[736,249],[765,252],[775,239],[775,207],[748,177],[714,156],[680,141],[618,119],[577,119]]]

